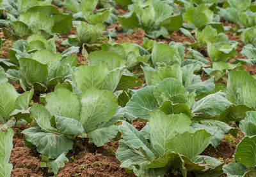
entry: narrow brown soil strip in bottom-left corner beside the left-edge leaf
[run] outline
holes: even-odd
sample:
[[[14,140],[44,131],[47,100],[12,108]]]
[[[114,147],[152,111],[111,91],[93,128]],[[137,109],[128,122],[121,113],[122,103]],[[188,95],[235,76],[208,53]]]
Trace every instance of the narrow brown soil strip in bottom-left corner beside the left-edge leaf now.
[[[21,125],[20,129],[28,128],[26,124]],[[11,176],[27,177],[43,176],[43,171],[40,168],[40,158],[36,150],[31,150],[23,143],[23,136],[20,129],[14,129],[13,149],[10,157],[10,163],[13,164]]]

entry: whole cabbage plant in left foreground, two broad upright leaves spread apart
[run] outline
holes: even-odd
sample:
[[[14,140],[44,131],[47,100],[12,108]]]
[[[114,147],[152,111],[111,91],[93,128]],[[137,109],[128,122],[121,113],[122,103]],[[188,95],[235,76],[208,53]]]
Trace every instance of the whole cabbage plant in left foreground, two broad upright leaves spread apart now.
[[[108,90],[88,88],[78,98],[66,88],[58,88],[45,96],[45,103],[31,106],[29,113],[37,126],[22,133],[39,153],[51,159],[68,152],[78,137],[103,146],[118,132],[118,104]]]

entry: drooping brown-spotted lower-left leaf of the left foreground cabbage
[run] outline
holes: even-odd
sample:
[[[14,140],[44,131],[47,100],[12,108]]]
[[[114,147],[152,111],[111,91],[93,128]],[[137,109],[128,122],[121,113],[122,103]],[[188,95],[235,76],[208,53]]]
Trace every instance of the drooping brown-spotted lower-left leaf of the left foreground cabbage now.
[[[39,127],[32,127],[22,131],[27,141],[36,146],[36,150],[51,159],[58,158],[61,153],[68,152],[73,146],[73,141],[64,134],[43,132]]]

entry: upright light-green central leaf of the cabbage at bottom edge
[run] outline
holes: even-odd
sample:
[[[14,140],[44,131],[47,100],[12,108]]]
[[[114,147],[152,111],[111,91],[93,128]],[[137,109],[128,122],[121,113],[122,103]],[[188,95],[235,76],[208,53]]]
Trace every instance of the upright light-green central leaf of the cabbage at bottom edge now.
[[[165,115],[162,111],[150,113],[150,141],[157,157],[168,151],[168,143],[178,132],[189,131],[190,124],[186,115]]]

